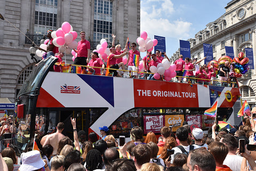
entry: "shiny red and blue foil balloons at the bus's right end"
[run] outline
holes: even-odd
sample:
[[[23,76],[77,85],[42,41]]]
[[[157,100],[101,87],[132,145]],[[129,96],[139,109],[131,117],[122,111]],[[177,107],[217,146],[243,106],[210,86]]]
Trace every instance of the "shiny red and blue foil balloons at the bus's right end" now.
[[[233,62],[235,62],[235,72],[237,74],[245,74],[246,72],[248,72],[249,58],[244,58],[244,53],[243,52],[240,52],[238,54],[238,58],[235,57],[233,59]]]

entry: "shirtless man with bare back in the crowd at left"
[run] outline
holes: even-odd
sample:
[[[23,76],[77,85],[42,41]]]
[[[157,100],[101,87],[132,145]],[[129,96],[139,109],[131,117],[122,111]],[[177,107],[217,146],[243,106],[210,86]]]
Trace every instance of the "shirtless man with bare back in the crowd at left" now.
[[[53,133],[51,135],[48,135],[46,137],[45,142],[44,142],[44,145],[51,144],[53,146],[53,153],[52,153],[53,155],[57,154],[58,143],[60,142],[60,140],[65,138],[65,136],[62,134],[63,129],[64,129],[64,123],[58,123],[58,125],[57,125],[57,132]],[[64,144],[64,145],[66,145],[66,144]],[[59,152],[60,151],[61,151],[61,149],[59,150]]]

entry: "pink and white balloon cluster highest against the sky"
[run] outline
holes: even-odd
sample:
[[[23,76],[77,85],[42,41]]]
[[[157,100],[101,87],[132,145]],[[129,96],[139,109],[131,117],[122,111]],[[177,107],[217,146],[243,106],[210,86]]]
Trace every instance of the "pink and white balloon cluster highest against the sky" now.
[[[157,45],[158,41],[157,39],[151,40],[151,38],[148,37],[147,32],[142,31],[140,37],[137,38],[137,43],[139,44],[140,52],[151,52],[153,51],[154,46]]]

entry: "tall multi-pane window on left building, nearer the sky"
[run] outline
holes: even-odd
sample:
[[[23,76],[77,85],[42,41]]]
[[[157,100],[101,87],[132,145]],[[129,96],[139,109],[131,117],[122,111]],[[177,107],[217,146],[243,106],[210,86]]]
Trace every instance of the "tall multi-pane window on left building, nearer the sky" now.
[[[107,0],[94,1],[93,41],[105,38],[111,42],[113,2]]]

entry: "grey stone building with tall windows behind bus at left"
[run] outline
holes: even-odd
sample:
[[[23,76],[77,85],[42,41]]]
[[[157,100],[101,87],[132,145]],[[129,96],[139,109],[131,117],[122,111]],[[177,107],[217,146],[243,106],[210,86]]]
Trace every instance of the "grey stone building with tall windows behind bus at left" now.
[[[35,64],[29,54],[31,42],[21,32],[39,45],[48,29],[56,30],[68,21],[78,35],[85,31],[91,50],[101,38],[111,44],[111,34],[122,45],[127,37],[135,42],[140,35],[140,0],[4,0],[0,13],[6,19],[0,20],[0,98],[11,102]],[[67,59],[73,63],[70,55]]]

